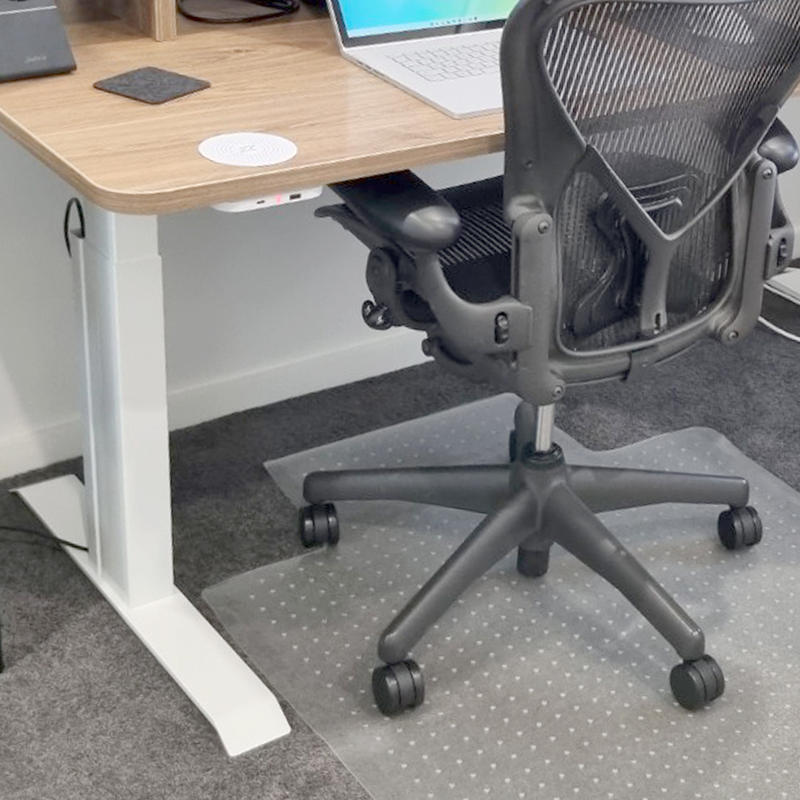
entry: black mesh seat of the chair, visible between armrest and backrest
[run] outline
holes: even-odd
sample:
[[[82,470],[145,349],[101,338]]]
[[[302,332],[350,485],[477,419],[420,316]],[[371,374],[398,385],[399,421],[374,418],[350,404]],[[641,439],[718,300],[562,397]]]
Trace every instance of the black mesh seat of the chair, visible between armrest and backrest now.
[[[511,286],[511,227],[503,214],[503,176],[441,193],[461,217],[458,241],[439,252],[448,283],[460,297],[486,303]]]

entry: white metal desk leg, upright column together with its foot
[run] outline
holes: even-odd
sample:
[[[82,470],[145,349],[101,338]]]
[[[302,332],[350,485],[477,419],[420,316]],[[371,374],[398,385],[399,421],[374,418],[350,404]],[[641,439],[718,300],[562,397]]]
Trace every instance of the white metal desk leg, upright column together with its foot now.
[[[18,490],[238,755],[289,732],[274,695],[175,588],[158,218],[83,203],[72,231],[85,487]]]

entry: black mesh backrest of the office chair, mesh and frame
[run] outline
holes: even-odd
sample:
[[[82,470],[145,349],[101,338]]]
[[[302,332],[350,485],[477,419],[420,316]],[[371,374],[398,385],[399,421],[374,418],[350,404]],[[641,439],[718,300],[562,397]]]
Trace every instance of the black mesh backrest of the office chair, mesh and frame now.
[[[621,350],[746,333],[745,168],[800,77],[800,3],[522,0],[502,62],[506,209],[555,222],[557,271],[514,268],[517,296],[557,292],[550,368],[599,378]]]

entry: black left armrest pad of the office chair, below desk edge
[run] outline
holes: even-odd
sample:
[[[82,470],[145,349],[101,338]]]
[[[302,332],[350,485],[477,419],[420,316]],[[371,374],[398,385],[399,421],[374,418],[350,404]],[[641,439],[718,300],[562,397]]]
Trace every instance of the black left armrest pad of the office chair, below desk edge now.
[[[369,227],[409,250],[437,252],[461,234],[456,210],[413,172],[393,172],[331,186]]]

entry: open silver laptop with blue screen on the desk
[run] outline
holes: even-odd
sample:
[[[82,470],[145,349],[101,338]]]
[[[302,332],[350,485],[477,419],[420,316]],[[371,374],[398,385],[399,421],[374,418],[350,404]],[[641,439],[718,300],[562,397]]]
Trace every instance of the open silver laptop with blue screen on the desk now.
[[[500,37],[517,0],[328,0],[345,58],[452,117],[500,111]]]

